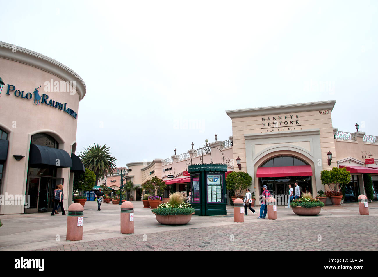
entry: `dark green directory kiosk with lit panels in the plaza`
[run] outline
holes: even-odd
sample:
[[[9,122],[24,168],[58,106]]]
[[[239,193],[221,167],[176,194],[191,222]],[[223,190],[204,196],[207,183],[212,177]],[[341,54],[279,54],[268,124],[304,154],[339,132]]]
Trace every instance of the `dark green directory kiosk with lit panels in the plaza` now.
[[[193,164],[188,172],[195,215],[226,215],[227,164]]]

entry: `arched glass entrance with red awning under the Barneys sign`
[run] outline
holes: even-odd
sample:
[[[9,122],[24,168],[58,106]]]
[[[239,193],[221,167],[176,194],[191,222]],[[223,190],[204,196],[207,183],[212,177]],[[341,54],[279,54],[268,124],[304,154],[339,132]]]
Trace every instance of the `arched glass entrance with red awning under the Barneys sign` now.
[[[294,156],[280,155],[265,161],[257,168],[260,187],[266,185],[279,204],[287,204],[289,184],[295,189],[298,183],[301,192],[312,193],[311,166]]]

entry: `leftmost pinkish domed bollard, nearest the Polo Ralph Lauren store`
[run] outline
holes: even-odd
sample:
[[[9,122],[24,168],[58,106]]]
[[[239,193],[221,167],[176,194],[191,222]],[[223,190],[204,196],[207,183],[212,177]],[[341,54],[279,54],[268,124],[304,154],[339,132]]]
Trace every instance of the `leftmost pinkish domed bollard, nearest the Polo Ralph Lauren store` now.
[[[73,203],[68,207],[66,240],[83,239],[84,207],[82,204]]]

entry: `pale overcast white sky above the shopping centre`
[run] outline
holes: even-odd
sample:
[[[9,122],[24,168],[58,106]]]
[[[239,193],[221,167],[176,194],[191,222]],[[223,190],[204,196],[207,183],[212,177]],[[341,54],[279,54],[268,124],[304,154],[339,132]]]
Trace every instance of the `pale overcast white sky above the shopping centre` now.
[[[232,135],[226,110],[336,100],[378,135],[377,1],[4,1],[0,40],[73,69],[76,153],[117,167]]]

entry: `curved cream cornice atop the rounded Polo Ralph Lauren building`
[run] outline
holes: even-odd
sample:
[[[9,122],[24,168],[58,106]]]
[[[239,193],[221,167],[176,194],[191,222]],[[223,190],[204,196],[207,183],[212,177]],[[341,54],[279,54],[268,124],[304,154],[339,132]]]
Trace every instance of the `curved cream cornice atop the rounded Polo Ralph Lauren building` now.
[[[73,71],[71,68],[66,67],[62,63],[51,59],[47,56],[37,52],[16,46],[14,53],[13,45],[0,41],[0,57],[7,60],[14,60],[15,62],[24,63],[48,73],[54,74],[62,80],[67,82],[75,82],[75,88],[79,94],[79,101],[83,99],[87,92],[87,87],[84,80]],[[50,81],[50,80],[48,80]]]

